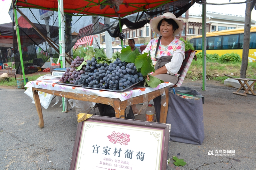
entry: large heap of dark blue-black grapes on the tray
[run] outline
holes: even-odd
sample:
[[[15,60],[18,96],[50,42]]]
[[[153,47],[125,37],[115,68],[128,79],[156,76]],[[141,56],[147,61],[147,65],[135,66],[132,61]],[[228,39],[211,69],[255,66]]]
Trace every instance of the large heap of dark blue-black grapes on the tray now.
[[[71,71],[72,73],[70,73]],[[69,71],[67,68],[68,75],[73,75],[75,71],[75,68],[71,68]],[[77,73],[77,75],[74,74],[75,79],[72,78],[73,76],[69,79],[69,82],[72,81],[75,85],[112,90],[123,90],[144,79],[142,74],[137,72],[134,63],[127,64],[122,62],[119,58],[108,65],[107,63],[99,64],[95,57],[92,57],[91,60],[87,61],[87,65],[83,67],[83,70],[80,70],[80,72],[76,71],[75,73]],[[65,78],[67,78],[67,76]]]

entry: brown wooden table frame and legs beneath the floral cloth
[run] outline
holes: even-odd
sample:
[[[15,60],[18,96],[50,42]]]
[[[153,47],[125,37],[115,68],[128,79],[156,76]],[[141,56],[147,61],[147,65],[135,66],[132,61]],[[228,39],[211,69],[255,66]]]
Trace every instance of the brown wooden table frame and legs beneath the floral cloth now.
[[[166,100],[166,106],[161,105],[161,113],[160,113],[160,123],[166,123],[166,116],[168,111],[168,101],[169,101],[169,91],[168,86],[164,87],[162,89],[158,89],[152,92],[148,92],[144,95],[148,96],[148,101],[156,98],[157,96],[161,96],[163,92],[165,92],[165,100]],[[32,87],[32,92],[36,104],[36,110],[37,114],[39,116],[39,122],[38,126],[40,128],[44,128],[44,119],[43,119],[43,113],[42,113],[42,107],[40,104],[40,99],[38,96],[38,91],[53,94],[55,96],[59,97],[65,97],[68,99],[75,99],[75,100],[83,100],[83,101],[89,101],[89,102],[95,102],[95,103],[102,103],[102,104],[108,104],[112,107],[114,107],[116,112],[116,117],[124,118],[124,110],[125,108],[130,104],[139,104],[143,103],[144,101],[144,95],[132,97],[132,100],[129,100],[129,104],[127,104],[127,100],[121,101],[120,99],[114,99],[114,98],[108,98],[108,97],[100,97],[100,96],[94,96],[89,94],[80,94],[75,92],[63,92],[63,91],[55,91],[55,90],[48,90],[43,88],[35,88]],[[164,99],[161,99],[164,100]],[[162,103],[162,102],[161,102]]]

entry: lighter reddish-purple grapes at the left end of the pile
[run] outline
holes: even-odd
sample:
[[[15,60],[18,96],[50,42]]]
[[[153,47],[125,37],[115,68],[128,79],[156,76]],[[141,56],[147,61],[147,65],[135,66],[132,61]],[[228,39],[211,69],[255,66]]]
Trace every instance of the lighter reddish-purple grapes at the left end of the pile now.
[[[61,83],[69,82],[74,84],[81,77],[81,74],[84,73],[84,70],[76,71],[76,67],[79,67],[83,61],[83,57],[76,56],[74,61],[71,62],[70,68],[66,68],[65,73],[60,78]]]

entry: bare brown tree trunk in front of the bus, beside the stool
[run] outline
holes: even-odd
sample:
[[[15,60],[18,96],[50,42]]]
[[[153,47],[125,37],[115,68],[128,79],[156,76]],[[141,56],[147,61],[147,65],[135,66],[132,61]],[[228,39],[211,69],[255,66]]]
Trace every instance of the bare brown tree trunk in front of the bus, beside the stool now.
[[[246,70],[248,66],[248,55],[249,55],[249,45],[250,45],[250,30],[251,30],[251,15],[252,9],[256,10],[256,0],[246,0],[245,8],[245,20],[244,20],[244,44],[243,44],[243,55],[242,55],[242,65],[240,71],[240,78],[246,77]]]

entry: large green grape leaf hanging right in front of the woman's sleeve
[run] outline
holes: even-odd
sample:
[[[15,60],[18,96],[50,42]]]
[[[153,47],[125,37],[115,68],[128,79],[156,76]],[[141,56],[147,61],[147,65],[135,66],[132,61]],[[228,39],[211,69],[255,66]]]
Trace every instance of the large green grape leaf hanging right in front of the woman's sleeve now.
[[[137,70],[140,69],[143,76],[146,76],[150,72],[155,72],[155,68],[148,53],[137,56],[134,64]]]

